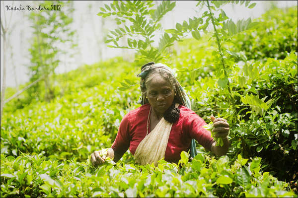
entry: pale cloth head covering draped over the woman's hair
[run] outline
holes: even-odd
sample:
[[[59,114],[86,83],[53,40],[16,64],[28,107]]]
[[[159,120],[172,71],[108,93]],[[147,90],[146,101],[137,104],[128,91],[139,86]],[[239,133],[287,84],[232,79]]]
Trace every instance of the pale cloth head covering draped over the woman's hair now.
[[[144,66],[142,66],[141,73],[139,73],[137,75],[138,77],[141,77],[141,80],[140,80],[141,88],[143,86],[144,80],[146,79],[146,76],[148,75],[149,71],[151,71],[153,69],[156,69],[156,68],[163,69],[163,70],[165,70],[166,72],[168,72],[172,75],[172,77],[175,79],[175,83],[178,85],[178,89],[176,90],[176,93],[178,94],[178,97],[179,97],[180,101],[182,102],[182,105],[184,105],[185,107],[191,109],[191,103],[190,103],[189,97],[185,93],[184,89],[182,88],[182,86],[180,85],[178,80],[175,78],[175,75],[174,75],[173,71],[171,70],[171,68],[164,65],[164,64],[161,64],[161,63],[155,64],[154,62],[150,62],[150,63],[145,64]],[[144,105],[145,101],[146,101],[145,100],[145,95],[142,93],[142,102],[141,102],[141,104]]]

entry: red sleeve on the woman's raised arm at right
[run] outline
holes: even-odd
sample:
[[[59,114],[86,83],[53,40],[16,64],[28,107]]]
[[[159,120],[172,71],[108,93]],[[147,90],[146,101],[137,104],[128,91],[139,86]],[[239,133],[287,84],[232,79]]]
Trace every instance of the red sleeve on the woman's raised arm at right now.
[[[184,119],[183,128],[186,129],[191,138],[197,140],[199,144],[210,151],[214,140],[211,137],[211,132],[203,128],[204,125],[206,125],[205,121],[193,113]]]

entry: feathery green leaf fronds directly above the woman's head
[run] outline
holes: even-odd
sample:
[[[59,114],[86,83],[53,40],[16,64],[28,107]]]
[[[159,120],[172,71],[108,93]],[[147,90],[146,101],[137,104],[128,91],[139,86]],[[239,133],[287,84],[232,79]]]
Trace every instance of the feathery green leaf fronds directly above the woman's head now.
[[[157,31],[162,29],[159,21],[169,11],[175,7],[176,2],[161,1],[153,8],[152,0],[147,1],[117,1],[114,0],[110,5],[105,4],[101,7],[97,15],[108,17],[115,15],[119,28],[110,31],[105,43],[113,42],[114,45],[108,47],[134,49],[140,54],[137,59],[147,61],[160,61],[166,55],[165,49],[173,45],[176,37],[170,37],[164,33],[159,40],[158,47],[154,47],[154,36]],[[130,24],[127,26],[127,24]],[[120,38],[127,36],[127,46],[119,46]]]

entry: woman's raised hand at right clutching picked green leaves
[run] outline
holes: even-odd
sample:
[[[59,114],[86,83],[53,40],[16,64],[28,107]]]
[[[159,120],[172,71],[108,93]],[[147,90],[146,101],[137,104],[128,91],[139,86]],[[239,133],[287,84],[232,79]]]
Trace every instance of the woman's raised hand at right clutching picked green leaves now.
[[[211,121],[213,122],[214,129],[212,132],[215,132],[215,137],[226,138],[229,134],[229,125],[223,118],[215,118],[214,116],[210,116]]]

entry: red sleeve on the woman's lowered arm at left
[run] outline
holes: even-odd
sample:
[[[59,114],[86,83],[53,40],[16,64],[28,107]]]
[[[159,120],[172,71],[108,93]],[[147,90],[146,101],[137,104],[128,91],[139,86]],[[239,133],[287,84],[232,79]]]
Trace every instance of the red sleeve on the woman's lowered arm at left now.
[[[112,149],[120,154],[121,156],[127,151],[130,146],[131,135],[130,135],[130,124],[128,121],[129,113],[126,114],[121,123]]]

